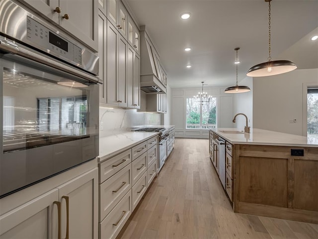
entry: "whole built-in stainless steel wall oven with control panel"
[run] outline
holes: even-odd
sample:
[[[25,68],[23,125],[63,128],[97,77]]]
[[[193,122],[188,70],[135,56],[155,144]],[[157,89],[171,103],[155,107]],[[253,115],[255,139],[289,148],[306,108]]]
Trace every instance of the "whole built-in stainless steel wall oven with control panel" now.
[[[0,198],[98,155],[98,57],[0,0]]]

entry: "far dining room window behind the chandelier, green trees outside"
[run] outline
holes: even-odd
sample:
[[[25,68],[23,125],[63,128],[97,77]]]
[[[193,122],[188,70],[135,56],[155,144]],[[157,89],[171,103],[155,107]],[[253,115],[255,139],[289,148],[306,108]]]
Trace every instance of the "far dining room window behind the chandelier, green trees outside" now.
[[[186,128],[209,129],[217,125],[217,98],[200,103],[195,98],[186,99]]]

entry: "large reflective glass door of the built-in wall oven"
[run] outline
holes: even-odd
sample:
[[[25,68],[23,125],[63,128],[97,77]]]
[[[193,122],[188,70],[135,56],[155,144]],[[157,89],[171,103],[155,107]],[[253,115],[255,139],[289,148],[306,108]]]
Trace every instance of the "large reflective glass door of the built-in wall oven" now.
[[[98,155],[98,93],[75,74],[0,52],[0,198]]]

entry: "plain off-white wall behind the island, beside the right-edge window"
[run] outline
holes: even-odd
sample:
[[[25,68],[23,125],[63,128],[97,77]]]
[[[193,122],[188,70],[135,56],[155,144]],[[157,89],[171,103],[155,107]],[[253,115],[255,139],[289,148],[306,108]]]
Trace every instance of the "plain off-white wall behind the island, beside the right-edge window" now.
[[[253,127],[306,135],[303,85],[312,83],[318,85],[318,69],[253,78]]]

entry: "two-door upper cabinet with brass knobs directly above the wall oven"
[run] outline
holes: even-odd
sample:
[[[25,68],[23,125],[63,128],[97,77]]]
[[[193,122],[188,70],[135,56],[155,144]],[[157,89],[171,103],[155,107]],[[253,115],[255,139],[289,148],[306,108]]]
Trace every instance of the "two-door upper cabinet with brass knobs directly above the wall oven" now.
[[[98,0],[24,0],[78,40],[98,50]]]

